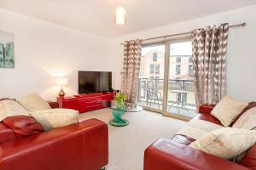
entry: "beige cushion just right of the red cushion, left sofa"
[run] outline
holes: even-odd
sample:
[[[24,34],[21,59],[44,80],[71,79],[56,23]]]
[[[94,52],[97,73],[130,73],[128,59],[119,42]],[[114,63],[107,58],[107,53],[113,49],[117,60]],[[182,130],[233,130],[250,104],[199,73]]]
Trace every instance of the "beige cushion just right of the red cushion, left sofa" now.
[[[30,113],[44,127],[50,130],[55,127],[65,127],[79,122],[79,111],[71,109],[50,109],[44,111],[33,111]]]

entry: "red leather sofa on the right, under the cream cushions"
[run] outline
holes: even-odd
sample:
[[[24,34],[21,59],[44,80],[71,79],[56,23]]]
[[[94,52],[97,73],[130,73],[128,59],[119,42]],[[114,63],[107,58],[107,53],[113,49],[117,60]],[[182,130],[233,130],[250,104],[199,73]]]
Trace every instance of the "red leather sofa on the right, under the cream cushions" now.
[[[256,102],[251,102],[245,111],[255,106]],[[214,105],[201,105],[199,109],[200,114],[195,116],[195,119],[201,119],[221,125],[218,119],[210,114],[213,108]],[[238,116],[236,120],[240,116]],[[154,144],[148,146],[144,152],[144,170],[256,169],[256,144],[247,151],[247,154],[239,163],[235,163],[233,161],[227,161],[200,150],[190,148],[189,144],[193,141],[195,141],[195,139],[191,139],[183,135],[175,135],[171,139],[158,139]]]

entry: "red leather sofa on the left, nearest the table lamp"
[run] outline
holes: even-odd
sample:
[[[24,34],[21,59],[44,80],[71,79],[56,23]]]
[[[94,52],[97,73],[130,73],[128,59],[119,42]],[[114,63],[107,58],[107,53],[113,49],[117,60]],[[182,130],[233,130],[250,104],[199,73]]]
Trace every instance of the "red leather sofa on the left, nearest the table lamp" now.
[[[99,120],[19,139],[0,122],[1,170],[99,170],[107,164],[108,125]]]

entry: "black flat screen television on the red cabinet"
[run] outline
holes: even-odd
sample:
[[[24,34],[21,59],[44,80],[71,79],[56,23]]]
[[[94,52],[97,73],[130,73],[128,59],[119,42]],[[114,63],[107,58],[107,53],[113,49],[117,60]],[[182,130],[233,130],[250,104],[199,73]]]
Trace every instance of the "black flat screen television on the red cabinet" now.
[[[112,72],[79,71],[79,94],[112,91]]]

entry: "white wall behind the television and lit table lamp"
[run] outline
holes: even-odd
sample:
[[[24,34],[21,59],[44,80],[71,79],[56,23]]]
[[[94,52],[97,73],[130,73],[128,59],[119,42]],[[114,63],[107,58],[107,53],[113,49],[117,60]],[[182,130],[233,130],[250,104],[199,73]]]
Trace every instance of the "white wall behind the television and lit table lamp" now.
[[[0,68],[0,99],[36,92],[55,99],[55,77],[76,94],[78,71],[111,71],[108,39],[0,9],[0,31],[15,34],[15,69]]]

